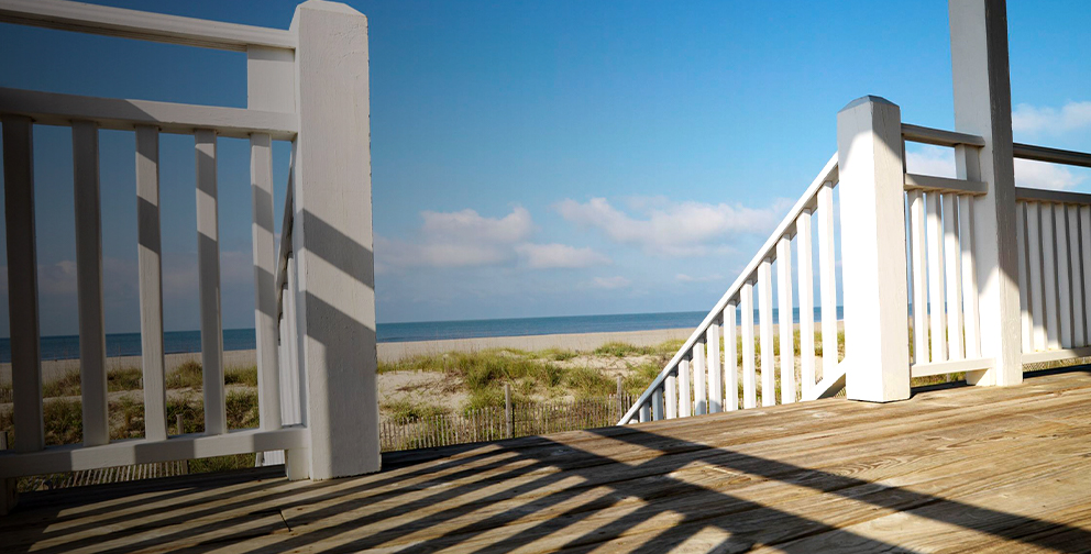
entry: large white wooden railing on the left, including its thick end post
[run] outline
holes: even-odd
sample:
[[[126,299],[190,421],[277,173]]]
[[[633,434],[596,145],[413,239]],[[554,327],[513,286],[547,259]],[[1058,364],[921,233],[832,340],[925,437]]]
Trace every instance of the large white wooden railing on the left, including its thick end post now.
[[[238,51],[247,60],[246,109],[0,88],[15,423],[14,450],[0,452],[5,490],[18,476],[264,451],[287,451],[294,478],[378,469],[366,19],[343,4],[311,0],[296,9],[290,30],[282,31],[62,0],[0,0],[0,21]],[[78,445],[46,447],[44,441],[32,171],[36,125],[69,126],[73,133],[84,435]],[[139,440],[109,439],[101,129],[132,132],[135,141],[145,424]],[[175,207],[159,202],[162,133],[192,135],[196,145],[201,434],[169,435],[166,420],[159,214]],[[229,431],[225,417],[219,136],[250,140],[260,429]],[[278,256],[275,140],[293,143]],[[5,496],[0,511],[9,505]]]

